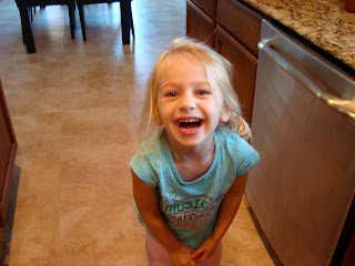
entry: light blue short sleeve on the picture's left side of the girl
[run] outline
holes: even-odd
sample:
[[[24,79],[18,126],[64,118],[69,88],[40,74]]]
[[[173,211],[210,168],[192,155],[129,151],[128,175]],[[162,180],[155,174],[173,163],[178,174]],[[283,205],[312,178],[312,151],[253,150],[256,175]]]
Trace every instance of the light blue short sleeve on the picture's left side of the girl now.
[[[146,155],[141,152],[136,153],[130,162],[130,167],[146,185],[151,187],[158,185],[156,174]]]

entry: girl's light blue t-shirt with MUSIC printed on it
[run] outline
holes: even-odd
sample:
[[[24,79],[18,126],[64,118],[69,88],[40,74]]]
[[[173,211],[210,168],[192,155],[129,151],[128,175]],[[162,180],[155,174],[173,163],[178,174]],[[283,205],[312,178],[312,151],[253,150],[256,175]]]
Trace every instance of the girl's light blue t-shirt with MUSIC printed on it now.
[[[214,144],[210,170],[192,182],[182,181],[165,131],[160,139],[153,136],[143,142],[130,163],[146,185],[156,188],[160,209],[172,232],[194,249],[211,235],[221,201],[235,177],[246,174],[258,162],[258,153],[235,133],[216,130]]]

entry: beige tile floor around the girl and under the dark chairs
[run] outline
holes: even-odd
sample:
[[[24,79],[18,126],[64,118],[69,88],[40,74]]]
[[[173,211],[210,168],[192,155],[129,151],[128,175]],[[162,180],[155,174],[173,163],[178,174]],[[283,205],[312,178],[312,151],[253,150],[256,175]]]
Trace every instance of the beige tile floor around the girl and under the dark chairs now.
[[[37,9],[37,53],[13,0],[0,0],[0,78],[21,167],[11,266],[146,265],[128,163],[144,85],[159,54],[185,34],[184,0],[134,0],[135,40],[122,45],[119,3]],[[244,198],[223,241],[223,266],[274,265]]]

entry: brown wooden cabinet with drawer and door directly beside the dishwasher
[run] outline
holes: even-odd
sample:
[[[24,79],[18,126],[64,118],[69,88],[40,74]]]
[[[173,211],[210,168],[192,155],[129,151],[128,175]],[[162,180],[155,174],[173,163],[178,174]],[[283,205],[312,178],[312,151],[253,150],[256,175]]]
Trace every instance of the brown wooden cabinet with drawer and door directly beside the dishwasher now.
[[[217,1],[215,50],[234,66],[233,85],[248,124],[252,124],[262,20],[263,16],[236,0]]]

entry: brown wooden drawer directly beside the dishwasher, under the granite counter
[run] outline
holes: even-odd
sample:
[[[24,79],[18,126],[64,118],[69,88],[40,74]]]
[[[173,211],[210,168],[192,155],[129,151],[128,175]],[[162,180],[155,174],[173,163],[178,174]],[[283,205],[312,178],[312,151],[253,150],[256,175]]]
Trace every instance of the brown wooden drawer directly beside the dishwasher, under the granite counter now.
[[[220,0],[216,21],[255,57],[263,17],[236,0]]]

